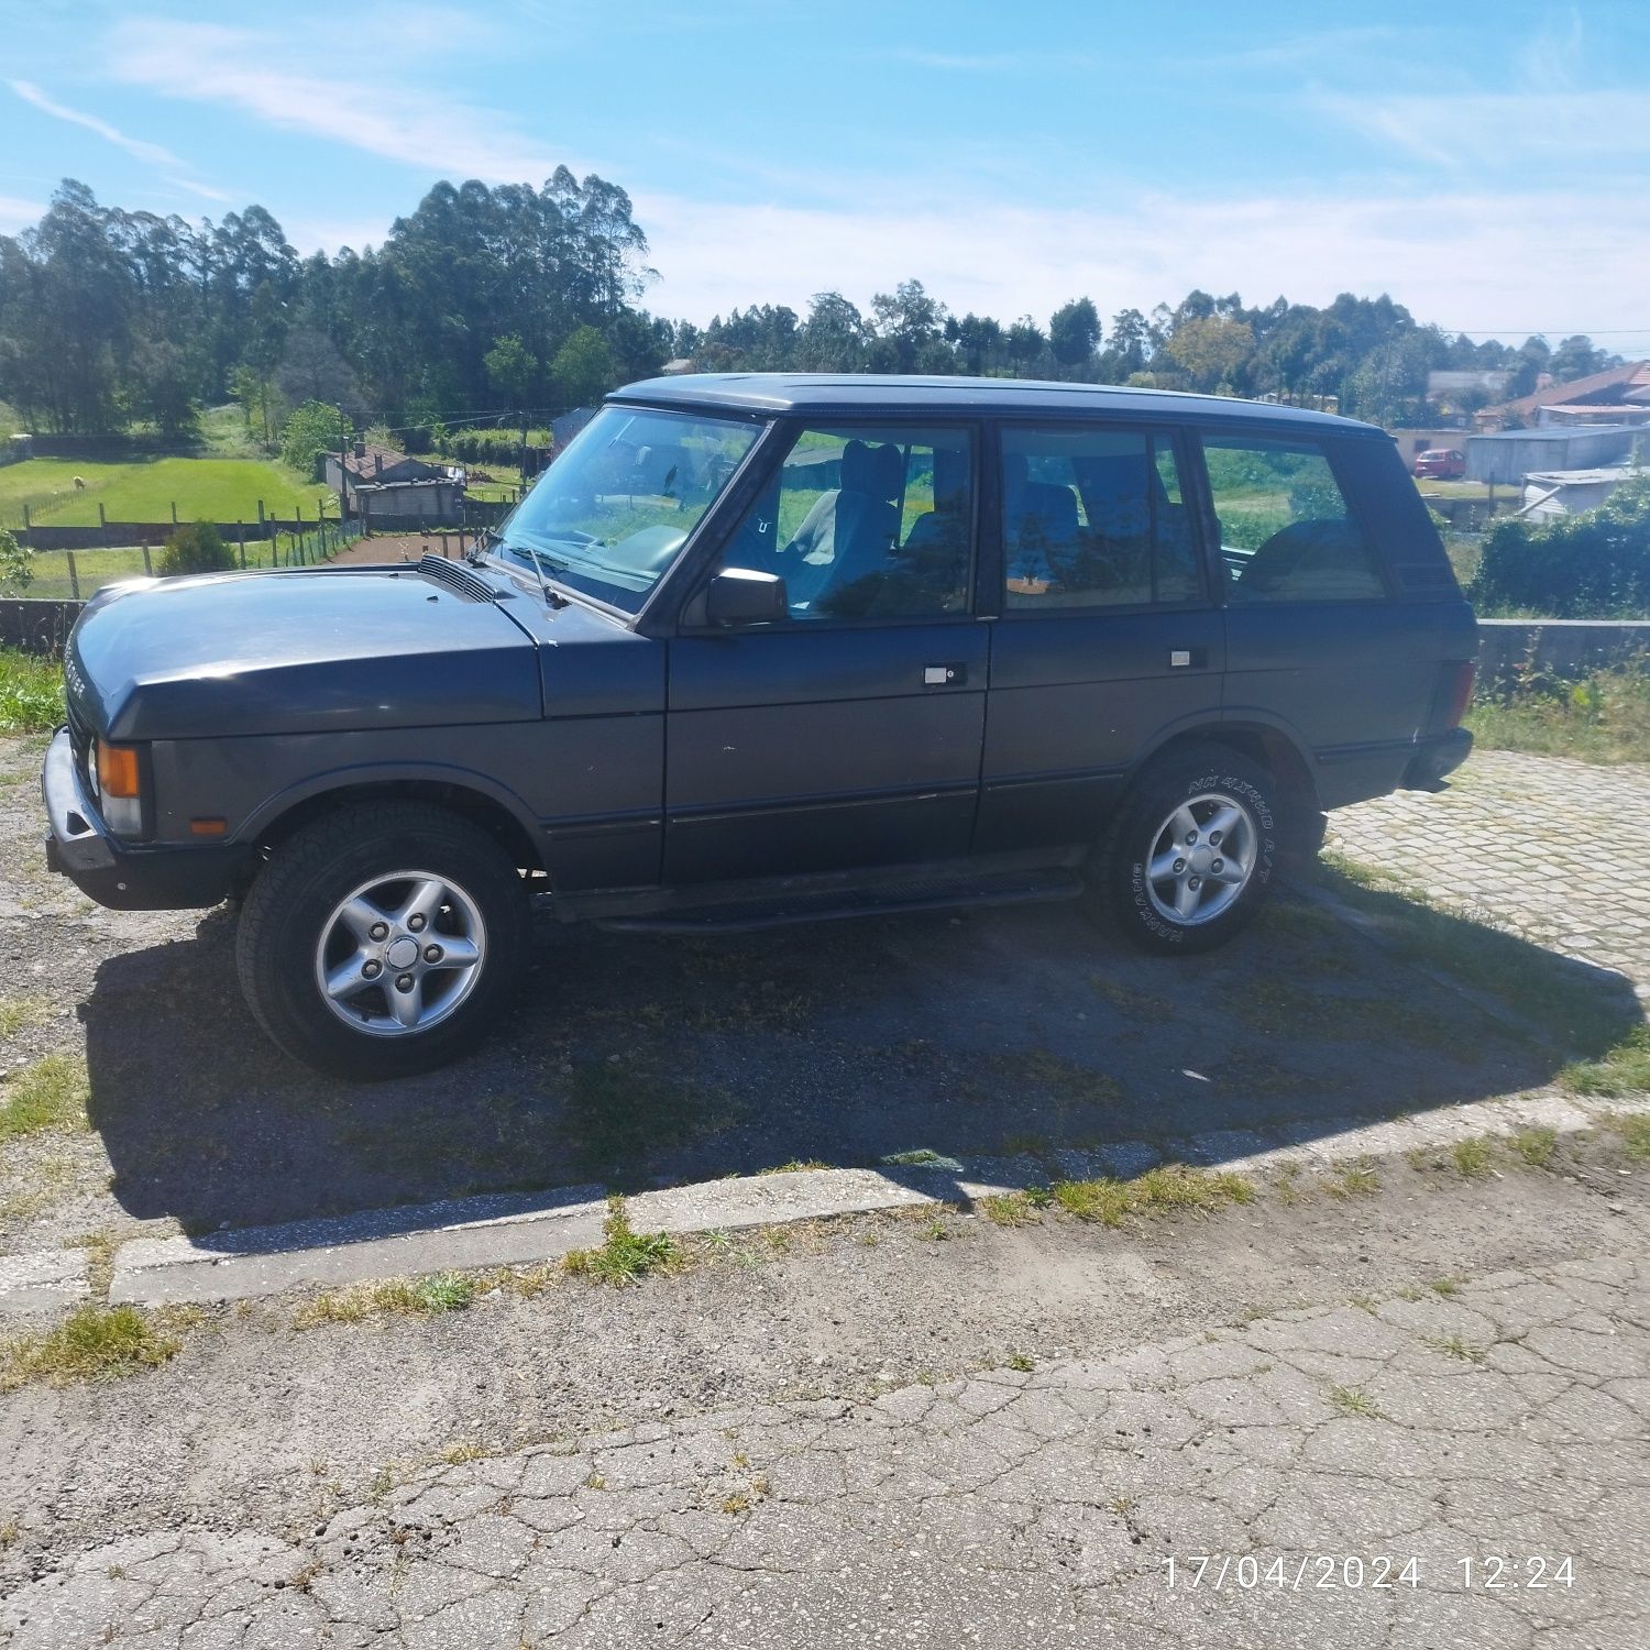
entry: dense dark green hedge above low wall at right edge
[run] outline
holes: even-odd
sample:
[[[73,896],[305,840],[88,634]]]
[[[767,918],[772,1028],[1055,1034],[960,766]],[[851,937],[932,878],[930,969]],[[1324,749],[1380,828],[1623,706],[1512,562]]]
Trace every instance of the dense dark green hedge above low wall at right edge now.
[[[1498,521],[1470,596],[1482,612],[1614,619],[1650,612],[1650,474],[1624,482],[1597,510],[1541,526]]]

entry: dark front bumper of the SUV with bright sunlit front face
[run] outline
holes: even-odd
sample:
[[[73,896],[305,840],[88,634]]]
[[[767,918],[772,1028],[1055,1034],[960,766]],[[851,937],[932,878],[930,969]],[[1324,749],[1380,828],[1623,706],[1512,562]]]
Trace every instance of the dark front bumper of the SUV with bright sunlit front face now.
[[[241,843],[147,848],[109,835],[74,762],[68,728],[46,747],[46,866],[87,899],[116,911],[186,911],[228,899],[251,876],[254,850]]]

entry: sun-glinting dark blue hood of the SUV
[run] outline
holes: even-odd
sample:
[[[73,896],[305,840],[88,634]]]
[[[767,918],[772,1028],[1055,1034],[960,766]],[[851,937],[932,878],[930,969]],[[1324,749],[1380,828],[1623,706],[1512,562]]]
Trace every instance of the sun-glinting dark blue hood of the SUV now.
[[[69,708],[111,739],[536,719],[538,648],[492,594],[412,566],[112,586],[69,639]]]

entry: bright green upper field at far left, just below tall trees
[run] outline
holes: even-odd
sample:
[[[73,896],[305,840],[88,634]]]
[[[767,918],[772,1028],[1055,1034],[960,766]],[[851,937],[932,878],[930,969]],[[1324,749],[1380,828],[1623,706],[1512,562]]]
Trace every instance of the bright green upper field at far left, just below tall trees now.
[[[76,488],[79,475],[84,488]],[[30,459],[0,469],[0,525],[21,526],[23,505],[41,526],[96,526],[97,505],[112,521],[256,521],[297,507],[315,515],[325,487],[282,464],[259,459],[148,459],[97,464],[89,459]]]

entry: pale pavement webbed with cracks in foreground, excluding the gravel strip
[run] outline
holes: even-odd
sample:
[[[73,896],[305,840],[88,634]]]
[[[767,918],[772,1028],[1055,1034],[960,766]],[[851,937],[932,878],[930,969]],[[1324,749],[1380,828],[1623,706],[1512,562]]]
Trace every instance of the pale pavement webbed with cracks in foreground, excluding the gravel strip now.
[[[0,1643],[1637,1650],[1647,1619],[1650,1264],[1607,1256],[119,1539]]]

